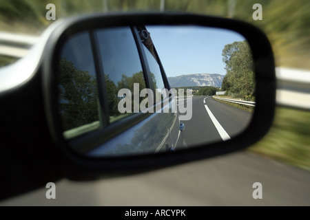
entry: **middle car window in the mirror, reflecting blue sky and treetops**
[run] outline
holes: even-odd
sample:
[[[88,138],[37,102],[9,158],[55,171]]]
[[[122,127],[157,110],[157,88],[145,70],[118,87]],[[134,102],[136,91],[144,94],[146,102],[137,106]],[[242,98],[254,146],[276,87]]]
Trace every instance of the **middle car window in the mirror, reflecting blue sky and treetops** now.
[[[99,30],[96,32],[96,37],[105,75],[110,123],[112,123],[133,114],[118,111],[120,100],[118,91],[130,89],[134,94],[134,83],[138,83],[140,92],[146,87],[145,78],[130,27]]]

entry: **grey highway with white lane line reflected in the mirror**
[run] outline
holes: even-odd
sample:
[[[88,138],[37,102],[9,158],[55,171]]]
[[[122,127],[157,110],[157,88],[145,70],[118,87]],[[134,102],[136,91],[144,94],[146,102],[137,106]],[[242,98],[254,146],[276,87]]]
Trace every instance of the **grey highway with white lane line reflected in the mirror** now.
[[[218,102],[211,96],[194,96],[191,102],[192,119],[182,121],[188,146],[228,140],[246,129],[251,121],[249,111]]]

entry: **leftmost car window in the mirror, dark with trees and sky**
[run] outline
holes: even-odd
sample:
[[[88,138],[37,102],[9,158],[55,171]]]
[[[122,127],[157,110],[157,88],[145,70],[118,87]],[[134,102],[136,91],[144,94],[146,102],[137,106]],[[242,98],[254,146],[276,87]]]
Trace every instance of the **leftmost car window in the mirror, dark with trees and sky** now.
[[[59,61],[59,113],[65,138],[100,128],[97,79],[87,32],[64,46]]]

